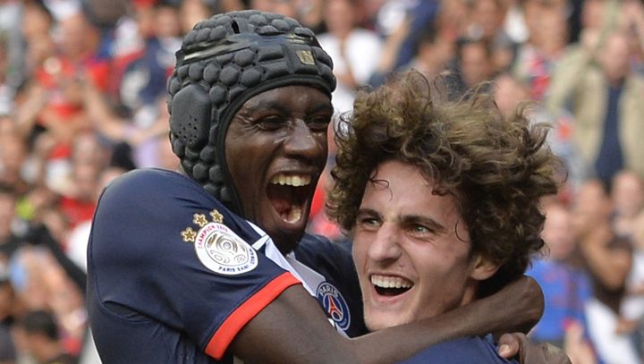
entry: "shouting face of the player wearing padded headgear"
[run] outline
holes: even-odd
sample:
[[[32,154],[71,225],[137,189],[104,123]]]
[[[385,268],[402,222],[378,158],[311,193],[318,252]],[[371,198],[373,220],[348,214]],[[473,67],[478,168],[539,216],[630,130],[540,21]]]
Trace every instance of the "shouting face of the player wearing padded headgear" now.
[[[318,178],[326,165],[331,100],[307,86],[270,89],[251,97],[226,134],[226,160],[243,215],[283,252],[306,228]]]

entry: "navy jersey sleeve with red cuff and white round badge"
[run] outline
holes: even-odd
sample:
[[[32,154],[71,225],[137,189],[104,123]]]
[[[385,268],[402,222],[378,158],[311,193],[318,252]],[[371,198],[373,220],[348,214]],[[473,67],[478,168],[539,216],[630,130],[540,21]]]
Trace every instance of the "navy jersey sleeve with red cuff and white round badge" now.
[[[94,294],[115,315],[156,320],[220,359],[243,326],[299,284],[250,247],[257,239],[191,180],[131,172],[98,203],[88,256]]]

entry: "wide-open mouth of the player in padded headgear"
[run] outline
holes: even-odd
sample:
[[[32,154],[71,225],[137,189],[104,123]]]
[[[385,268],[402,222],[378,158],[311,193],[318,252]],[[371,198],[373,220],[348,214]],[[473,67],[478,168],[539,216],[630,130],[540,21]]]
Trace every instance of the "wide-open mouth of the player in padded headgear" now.
[[[289,223],[301,220],[310,198],[310,174],[276,174],[267,187],[267,196],[277,215]]]

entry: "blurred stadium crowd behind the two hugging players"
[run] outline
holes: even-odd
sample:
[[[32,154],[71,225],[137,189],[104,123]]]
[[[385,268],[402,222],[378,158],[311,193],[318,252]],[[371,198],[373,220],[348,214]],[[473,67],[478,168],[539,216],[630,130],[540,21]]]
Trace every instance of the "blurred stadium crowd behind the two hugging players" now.
[[[250,8],[318,34],[338,117],[415,68],[453,97],[478,85],[503,113],[551,123],[563,185],[543,204],[547,245],[529,274],[546,312],[530,335],[573,363],[642,362],[641,0],[0,0],[0,364],[98,362],[84,290],[100,191],[134,168],[176,170],[174,52],[197,21]],[[340,238],[328,183],[309,231]]]

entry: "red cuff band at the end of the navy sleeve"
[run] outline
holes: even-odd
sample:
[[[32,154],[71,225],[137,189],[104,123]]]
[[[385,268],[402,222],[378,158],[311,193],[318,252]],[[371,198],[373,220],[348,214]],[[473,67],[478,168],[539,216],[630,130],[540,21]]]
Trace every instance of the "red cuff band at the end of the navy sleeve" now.
[[[219,326],[206,346],[206,353],[216,360],[220,360],[242,327],[293,284],[301,284],[301,282],[290,272],[284,272],[250,296],[225,319],[222,326]]]

